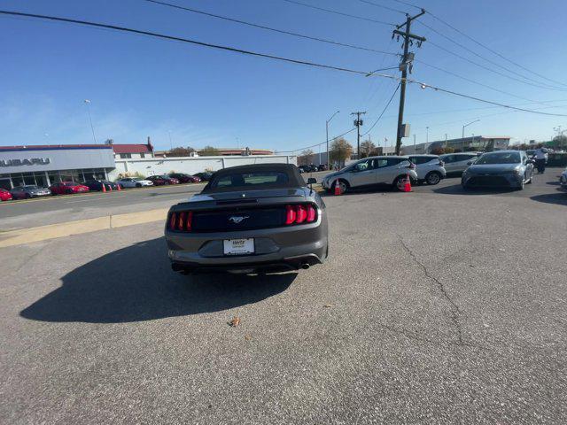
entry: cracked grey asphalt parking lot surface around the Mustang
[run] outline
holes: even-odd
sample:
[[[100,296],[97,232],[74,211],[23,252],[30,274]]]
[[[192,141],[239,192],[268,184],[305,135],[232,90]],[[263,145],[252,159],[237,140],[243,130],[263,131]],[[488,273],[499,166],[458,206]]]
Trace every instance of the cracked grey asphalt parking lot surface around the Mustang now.
[[[160,222],[0,249],[0,418],[567,423],[556,174],[327,196],[298,274],[174,274]]]

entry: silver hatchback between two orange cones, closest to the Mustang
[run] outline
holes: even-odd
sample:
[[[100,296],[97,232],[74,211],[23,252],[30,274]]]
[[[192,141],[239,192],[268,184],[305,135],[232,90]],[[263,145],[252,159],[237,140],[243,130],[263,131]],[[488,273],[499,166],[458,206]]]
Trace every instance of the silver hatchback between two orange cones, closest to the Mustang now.
[[[369,157],[346,166],[342,170],[327,174],[322,179],[322,188],[334,189],[338,182],[341,191],[389,184],[398,189],[401,182],[409,174],[409,178],[417,181],[416,165],[406,157]]]

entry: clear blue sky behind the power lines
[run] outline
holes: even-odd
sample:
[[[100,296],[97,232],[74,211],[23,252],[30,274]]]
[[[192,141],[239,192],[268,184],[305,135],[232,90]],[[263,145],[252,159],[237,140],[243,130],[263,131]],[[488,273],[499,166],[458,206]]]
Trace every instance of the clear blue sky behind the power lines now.
[[[167,1],[167,0],[166,0]],[[358,0],[301,0],[371,19],[400,23],[404,16]],[[415,9],[392,0],[376,0],[402,11]],[[169,0],[206,12],[251,21],[306,35],[400,52],[391,27],[332,15],[282,0]],[[563,0],[478,0],[414,2],[472,35],[493,50],[567,84]],[[346,66],[362,71],[396,66],[397,58],[278,35],[236,23],[176,11],[142,0],[16,0],[0,1],[4,10],[50,14],[73,19],[135,27],[245,50]],[[0,144],[92,143],[84,99],[91,101],[97,142],[143,143],[151,136],[158,149],[250,146],[291,151],[320,143],[325,120],[330,135],[352,127],[350,112],[368,111],[364,131],[376,120],[397,82],[265,58],[210,50],[142,35],[77,27],[64,23],[2,17],[0,22]],[[500,66],[541,81],[512,66],[425,15],[424,23]],[[463,51],[447,39],[415,24],[412,32],[478,63],[508,73]],[[564,90],[542,89],[512,81],[455,58],[428,42],[416,58],[471,80],[507,91],[462,81],[416,63],[412,77],[439,87],[504,104],[567,115]],[[387,73],[396,73],[389,71]],[[510,74],[511,76],[515,76]],[[518,78],[516,76],[516,78]],[[555,83],[547,82],[557,86]],[[513,95],[513,96],[510,96]],[[527,99],[527,100],[524,100]],[[545,104],[530,101],[548,102]],[[514,141],[548,140],[553,128],[567,128],[567,117],[509,112],[487,104],[408,86],[406,122],[412,137],[404,143],[459,137],[462,125],[480,119],[466,135],[510,135]],[[398,97],[369,133],[376,143],[395,139]],[[355,133],[346,136],[355,143]],[[324,148],[322,148],[324,149]],[[318,148],[314,149],[318,151]]]

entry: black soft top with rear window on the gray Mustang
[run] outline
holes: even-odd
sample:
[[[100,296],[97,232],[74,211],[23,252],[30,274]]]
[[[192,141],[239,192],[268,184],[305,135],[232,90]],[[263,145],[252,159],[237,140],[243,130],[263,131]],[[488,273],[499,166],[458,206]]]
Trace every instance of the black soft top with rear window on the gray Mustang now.
[[[293,164],[230,166],[213,174],[202,193],[250,189],[291,189],[306,185]]]

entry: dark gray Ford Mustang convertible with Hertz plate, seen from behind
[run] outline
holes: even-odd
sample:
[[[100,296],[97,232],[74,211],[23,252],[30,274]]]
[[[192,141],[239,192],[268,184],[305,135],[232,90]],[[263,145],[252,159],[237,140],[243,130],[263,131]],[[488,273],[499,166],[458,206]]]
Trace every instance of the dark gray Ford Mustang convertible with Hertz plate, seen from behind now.
[[[325,204],[290,164],[217,171],[201,193],[171,207],[165,233],[182,273],[297,270],[329,251]]]

